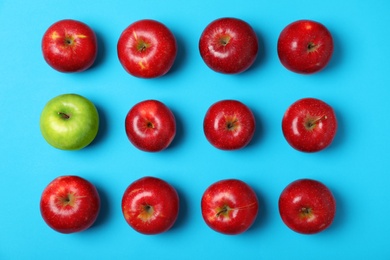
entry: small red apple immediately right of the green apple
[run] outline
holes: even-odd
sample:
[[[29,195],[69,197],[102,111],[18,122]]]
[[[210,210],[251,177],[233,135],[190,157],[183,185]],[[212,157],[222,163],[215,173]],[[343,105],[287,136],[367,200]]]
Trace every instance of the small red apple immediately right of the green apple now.
[[[134,105],[125,120],[130,142],[146,152],[167,148],[176,135],[176,121],[172,111],[162,102],[145,100]]]

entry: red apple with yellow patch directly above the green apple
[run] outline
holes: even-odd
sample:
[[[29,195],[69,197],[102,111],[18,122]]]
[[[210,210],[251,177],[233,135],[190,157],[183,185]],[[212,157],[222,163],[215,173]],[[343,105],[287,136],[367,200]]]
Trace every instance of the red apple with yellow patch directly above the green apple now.
[[[80,21],[58,21],[46,30],[42,38],[45,61],[60,72],[81,72],[90,68],[97,52],[95,32]]]

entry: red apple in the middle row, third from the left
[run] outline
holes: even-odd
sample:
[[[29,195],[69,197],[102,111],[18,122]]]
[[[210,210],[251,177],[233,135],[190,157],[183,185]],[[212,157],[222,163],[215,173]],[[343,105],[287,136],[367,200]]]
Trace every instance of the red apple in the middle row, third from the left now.
[[[252,111],[237,100],[221,100],[210,106],[203,121],[207,140],[221,150],[245,147],[255,133]]]

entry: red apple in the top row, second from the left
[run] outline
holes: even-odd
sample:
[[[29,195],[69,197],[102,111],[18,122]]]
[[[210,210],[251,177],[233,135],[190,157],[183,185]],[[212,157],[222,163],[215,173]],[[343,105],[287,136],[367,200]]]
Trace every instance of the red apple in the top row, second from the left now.
[[[171,69],[177,55],[177,43],[164,24],[139,20],[122,32],[117,51],[119,61],[128,73],[140,78],[156,78]]]

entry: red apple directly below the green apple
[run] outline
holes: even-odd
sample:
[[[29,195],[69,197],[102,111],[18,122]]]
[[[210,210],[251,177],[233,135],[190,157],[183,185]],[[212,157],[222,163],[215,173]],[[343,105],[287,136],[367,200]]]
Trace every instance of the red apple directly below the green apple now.
[[[53,230],[70,234],[88,229],[98,217],[100,197],[96,187],[79,176],[55,178],[40,200],[43,220]]]

